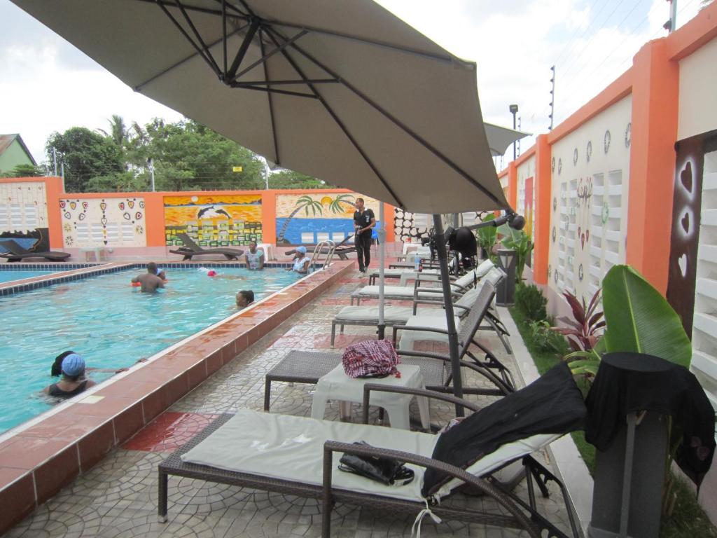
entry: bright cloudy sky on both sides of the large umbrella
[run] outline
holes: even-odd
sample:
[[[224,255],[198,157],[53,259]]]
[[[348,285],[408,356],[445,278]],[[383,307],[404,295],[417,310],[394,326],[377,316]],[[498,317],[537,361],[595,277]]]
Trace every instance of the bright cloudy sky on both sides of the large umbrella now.
[[[678,1],[678,27],[700,0]],[[556,65],[556,125],[630,67],[650,39],[663,37],[665,0],[379,0],[453,54],[478,63],[483,118],[523,131],[550,124]],[[0,0],[0,133],[20,133],[34,158],[72,126],[108,129],[118,114],[141,125],[181,115],[134,93],[9,0]],[[523,149],[531,145],[523,142]],[[512,151],[509,149],[508,153]],[[506,160],[507,161],[507,160]]]

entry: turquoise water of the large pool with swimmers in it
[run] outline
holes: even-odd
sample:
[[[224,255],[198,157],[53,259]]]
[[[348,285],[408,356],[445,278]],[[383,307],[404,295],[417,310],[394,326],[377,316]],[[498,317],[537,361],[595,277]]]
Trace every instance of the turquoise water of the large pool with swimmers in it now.
[[[143,269],[123,270],[0,298],[0,433],[48,410],[57,400],[39,394],[54,357],[67,349],[88,367],[129,367],[237,312],[234,296],[252,290],[255,301],[298,280],[293,271],[266,268],[166,268],[158,293],[130,285]],[[111,373],[89,372],[102,381]]]

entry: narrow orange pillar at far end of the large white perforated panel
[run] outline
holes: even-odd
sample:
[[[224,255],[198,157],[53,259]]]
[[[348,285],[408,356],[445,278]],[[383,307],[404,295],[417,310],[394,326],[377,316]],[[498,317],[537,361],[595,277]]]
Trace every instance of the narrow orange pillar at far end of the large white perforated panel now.
[[[536,175],[533,180],[535,190],[535,227],[533,227],[533,280],[536,284],[548,283],[548,256],[550,251],[550,209],[551,209],[551,169],[552,148],[548,136],[541,134],[536,138]]]

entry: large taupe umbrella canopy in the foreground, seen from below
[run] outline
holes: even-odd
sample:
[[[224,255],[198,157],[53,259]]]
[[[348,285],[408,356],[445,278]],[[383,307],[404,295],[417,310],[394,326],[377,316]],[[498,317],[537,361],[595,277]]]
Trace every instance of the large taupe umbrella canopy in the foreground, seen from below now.
[[[136,91],[280,166],[412,212],[508,207],[475,63],[373,1],[12,1]]]

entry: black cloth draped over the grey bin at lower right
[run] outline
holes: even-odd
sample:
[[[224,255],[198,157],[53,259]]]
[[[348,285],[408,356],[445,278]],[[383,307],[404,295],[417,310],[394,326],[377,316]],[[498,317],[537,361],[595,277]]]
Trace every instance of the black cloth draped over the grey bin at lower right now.
[[[652,411],[673,417],[683,442],[675,461],[699,485],[715,450],[715,413],[697,378],[685,367],[640,353],[607,353],[586,400],[585,438],[607,450],[625,415]],[[673,432],[675,430],[673,429]]]

